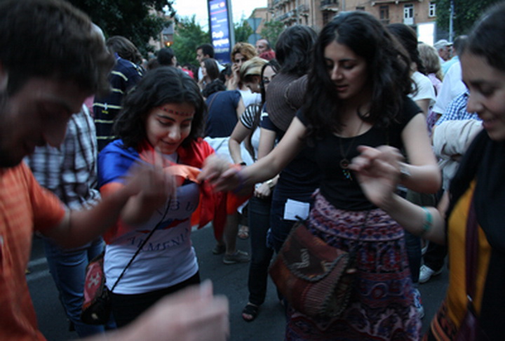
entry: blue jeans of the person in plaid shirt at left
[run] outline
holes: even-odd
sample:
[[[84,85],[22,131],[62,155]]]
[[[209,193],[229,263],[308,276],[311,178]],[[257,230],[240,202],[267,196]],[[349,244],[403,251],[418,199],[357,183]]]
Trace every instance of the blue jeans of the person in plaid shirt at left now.
[[[88,244],[87,248],[63,250],[52,241],[44,239],[44,249],[48,261],[50,274],[53,276],[56,288],[60,294],[60,301],[69,320],[74,323],[79,337],[86,337],[97,333],[103,333],[110,326],[92,326],[81,322],[81,308],[83,302],[84,278],[88,262],[100,255],[104,249],[101,238]]]

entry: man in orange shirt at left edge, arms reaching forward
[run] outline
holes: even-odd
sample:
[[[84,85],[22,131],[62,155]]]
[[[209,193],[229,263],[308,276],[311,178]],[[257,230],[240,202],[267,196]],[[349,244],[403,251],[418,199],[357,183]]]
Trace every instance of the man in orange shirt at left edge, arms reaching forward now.
[[[94,208],[68,211],[22,163],[37,145],[60,145],[70,116],[89,95],[108,87],[113,65],[113,56],[88,17],[67,2],[0,3],[1,340],[45,340],[36,326],[25,279],[33,232],[65,247],[79,246],[105,232],[124,210],[154,210],[171,191],[171,182],[160,170],[142,168]],[[225,340],[227,309],[226,300],[213,297],[208,286],[189,290],[107,337],[186,340],[191,335],[191,340]],[[97,339],[101,337],[105,336]]]

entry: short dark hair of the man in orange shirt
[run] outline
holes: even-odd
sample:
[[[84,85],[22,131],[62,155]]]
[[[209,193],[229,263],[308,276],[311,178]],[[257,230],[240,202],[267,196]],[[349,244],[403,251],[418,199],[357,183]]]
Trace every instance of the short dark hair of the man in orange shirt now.
[[[109,90],[114,56],[86,14],[62,0],[0,1],[0,62],[12,95],[32,77]]]

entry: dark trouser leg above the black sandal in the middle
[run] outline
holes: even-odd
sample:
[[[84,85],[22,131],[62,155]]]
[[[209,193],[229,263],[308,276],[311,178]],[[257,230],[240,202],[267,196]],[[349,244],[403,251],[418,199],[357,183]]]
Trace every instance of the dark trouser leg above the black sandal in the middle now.
[[[253,196],[249,200],[249,234],[251,260],[249,264],[249,302],[262,305],[267,295],[268,267],[274,250],[267,246],[267,232],[270,228],[271,197],[260,199]]]

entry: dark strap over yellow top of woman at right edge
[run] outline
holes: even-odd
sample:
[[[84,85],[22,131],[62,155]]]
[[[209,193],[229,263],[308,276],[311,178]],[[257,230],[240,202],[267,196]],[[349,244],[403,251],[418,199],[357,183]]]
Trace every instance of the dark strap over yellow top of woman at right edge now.
[[[470,203],[469,214],[466,218],[466,236],[465,236],[465,284],[466,295],[469,300],[473,300],[476,293],[477,260],[478,260],[478,228],[475,205],[473,198]]]

